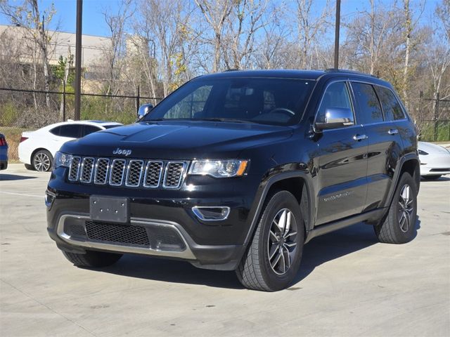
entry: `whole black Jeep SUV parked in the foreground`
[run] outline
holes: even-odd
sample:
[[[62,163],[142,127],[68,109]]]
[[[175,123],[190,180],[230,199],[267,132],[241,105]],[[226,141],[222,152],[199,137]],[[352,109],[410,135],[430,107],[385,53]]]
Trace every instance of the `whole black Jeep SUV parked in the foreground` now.
[[[77,266],[160,256],[275,291],[317,235],[364,222],[380,242],[413,239],[419,181],[416,128],[387,82],[230,71],[188,81],[135,124],[65,143],[48,230]]]

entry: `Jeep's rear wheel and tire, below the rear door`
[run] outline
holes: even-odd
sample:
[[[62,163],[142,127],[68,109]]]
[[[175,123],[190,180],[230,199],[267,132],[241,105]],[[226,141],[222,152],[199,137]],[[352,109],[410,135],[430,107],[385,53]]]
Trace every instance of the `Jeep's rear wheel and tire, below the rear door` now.
[[[375,226],[378,240],[386,244],[410,242],[416,235],[416,215],[416,183],[409,173],[403,173],[385,220]]]

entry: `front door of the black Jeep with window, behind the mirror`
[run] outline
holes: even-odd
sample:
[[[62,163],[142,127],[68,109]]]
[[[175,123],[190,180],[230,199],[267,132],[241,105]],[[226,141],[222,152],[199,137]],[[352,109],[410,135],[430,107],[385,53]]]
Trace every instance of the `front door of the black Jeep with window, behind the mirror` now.
[[[352,105],[349,86],[346,81],[328,84],[321,98],[316,121],[325,120],[327,108],[350,108]],[[314,138],[316,142],[315,161],[317,213],[316,224],[361,213],[366,200],[366,173],[368,140],[364,127],[352,126],[323,130]]]

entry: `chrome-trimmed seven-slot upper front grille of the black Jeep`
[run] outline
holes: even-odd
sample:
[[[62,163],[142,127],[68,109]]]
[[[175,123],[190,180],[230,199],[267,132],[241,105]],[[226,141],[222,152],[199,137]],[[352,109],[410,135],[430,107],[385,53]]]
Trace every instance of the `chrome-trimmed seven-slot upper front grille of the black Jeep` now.
[[[68,180],[83,184],[144,188],[179,188],[186,161],[73,157]]]

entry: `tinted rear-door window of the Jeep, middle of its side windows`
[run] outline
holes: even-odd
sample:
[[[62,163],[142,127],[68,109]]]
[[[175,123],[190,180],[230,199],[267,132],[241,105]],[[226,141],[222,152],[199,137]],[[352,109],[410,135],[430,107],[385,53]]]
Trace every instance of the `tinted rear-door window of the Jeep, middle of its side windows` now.
[[[352,83],[356,102],[359,105],[358,123],[371,124],[383,121],[380,101],[370,84]]]

